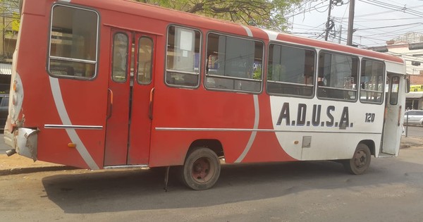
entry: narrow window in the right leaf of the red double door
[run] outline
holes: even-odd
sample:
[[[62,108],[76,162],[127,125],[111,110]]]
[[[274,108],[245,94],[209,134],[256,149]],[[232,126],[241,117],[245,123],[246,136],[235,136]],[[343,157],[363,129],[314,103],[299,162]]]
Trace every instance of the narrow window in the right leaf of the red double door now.
[[[140,37],[138,41],[137,82],[149,85],[152,82],[153,40]]]

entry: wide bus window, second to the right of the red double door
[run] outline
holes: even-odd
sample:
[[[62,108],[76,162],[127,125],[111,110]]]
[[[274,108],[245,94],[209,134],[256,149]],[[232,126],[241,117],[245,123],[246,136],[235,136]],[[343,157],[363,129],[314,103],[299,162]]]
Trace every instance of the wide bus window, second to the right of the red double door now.
[[[263,43],[210,33],[207,37],[209,89],[262,91]]]

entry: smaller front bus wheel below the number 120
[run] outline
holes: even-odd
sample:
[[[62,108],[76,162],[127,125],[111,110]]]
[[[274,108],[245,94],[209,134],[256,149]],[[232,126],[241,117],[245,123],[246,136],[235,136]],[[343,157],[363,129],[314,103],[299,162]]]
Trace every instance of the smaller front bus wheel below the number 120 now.
[[[353,158],[345,159],[343,166],[348,173],[360,175],[367,171],[371,159],[372,154],[370,153],[369,147],[367,147],[366,144],[360,143],[355,149]]]

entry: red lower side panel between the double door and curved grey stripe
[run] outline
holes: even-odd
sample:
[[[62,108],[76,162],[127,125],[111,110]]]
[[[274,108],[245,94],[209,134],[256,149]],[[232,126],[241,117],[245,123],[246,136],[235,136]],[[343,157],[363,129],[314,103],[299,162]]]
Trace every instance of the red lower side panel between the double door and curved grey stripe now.
[[[157,86],[150,166],[181,165],[195,140],[219,140],[228,161],[234,161],[247,144],[254,104],[250,94],[184,90]],[[236,138],[236,139],[235,139]]]

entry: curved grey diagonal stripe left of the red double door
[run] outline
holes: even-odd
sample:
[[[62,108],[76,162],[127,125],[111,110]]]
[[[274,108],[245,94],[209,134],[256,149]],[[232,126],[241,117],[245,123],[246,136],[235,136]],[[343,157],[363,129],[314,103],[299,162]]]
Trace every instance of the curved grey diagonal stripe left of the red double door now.
[[[57,112],[59,113],[60,119],[63,125],[72,125],[71,119],[68,116],[68,111],[66,111],[65,104],[63,103],[63,97],[61,95],[59,80],[57,78],[52,78],[49,76],[50,79],[50,87],[51,87],[51,94],[53,94],[54,104],[56,104]],[[88,152],[85,145],[82,143],[82,140],[76,133],[75,129],[66,129],[69,138],[75,144],[77,144],[76,149],[78,150],[79,154],[84,159],[85,163],[93,170],[98,170],[99,166],[95,163],[94,159]]]

